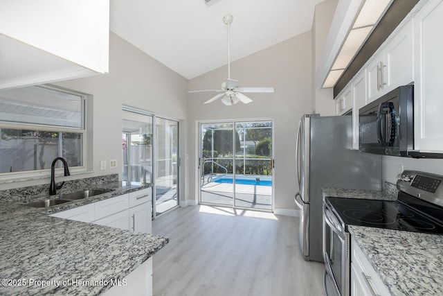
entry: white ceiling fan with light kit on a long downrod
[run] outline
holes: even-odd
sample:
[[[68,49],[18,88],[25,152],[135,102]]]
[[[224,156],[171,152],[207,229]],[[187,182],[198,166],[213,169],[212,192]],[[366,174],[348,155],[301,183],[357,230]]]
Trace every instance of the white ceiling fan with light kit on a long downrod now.
[[[212,103],[213,101],[217,100],[217,98],[221,98],[221,103],[230,106],[238,102],[242,102],[244,104],[251,103],[251,98],[248,98],[247,96],[242,94],[244,92],[274,92],[273,87],[238,87],[238,80],[230,79],[229,27],[230,24],[233,22],[233,16],[225,15],[223,17],[223,22],[224,24],[226,24],[226,26],[228,26],[228,79],[226,79],[225,82],[221,83],[221,89],[195,90],[188,93],[219,92],[220,94],[213,96],[213,98],[210,98],[208,101],[205,102],[205,104]]]

